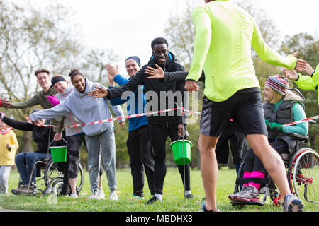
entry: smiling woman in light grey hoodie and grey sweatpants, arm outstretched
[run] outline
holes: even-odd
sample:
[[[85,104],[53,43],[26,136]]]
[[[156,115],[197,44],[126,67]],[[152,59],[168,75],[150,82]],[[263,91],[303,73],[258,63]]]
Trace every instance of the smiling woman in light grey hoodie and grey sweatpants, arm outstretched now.
[[[86,124],[93,121],[100,121],[104,119],[111,119],[112,115],[108,108],[108,100],[106,98],[96,98],[92,100],[88,93],[94,90],[95,86],[103,87],[99,83],[93,83],[82,75],[77,69],[72,69],[69,73],[74,91],[69,94],[64,102],[37,112],[37,114],[30,114],[30,119],[35,121],[42,114],[50,114],[52,118],[63,116],[69,117],[69,113],[74,114],[79,121]],[[103,87],[104,88],[104,87]],[[115,112],[117,117],[124,117],[123,111],[119,106],[111,105],[111,109]],[[125,119],[119,120],[121,126],[125,124]],[[106,169],[106,177],[108,179],[108,187],[110,189],[109,199],[117,200],[116,195],[116,168],[115,168],[115,137],[113,131],[113,121],[103,122],[100,124],[91,124],[83,126],[83,133],[85,134],[86,145],[89,153],[88,166],[89,177],[92,194],[89,198],[98,198],[99,191],[99,160],[100,149],[103,157],[103,165]]]

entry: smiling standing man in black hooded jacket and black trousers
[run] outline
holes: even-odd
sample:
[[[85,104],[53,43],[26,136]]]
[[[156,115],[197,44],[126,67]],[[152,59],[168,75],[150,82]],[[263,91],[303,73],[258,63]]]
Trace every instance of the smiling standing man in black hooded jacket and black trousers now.
[[[91,97],[107,97],[108,99],[113,99],[116,97],[121,97],[121,95],[125,91],[138,90],[139,85],[144,85],[146,95],[148,95],[147,91],[152,91],[152,94],[157,94],[158,98],[155,98],[152,94],[152,100],[150,97],[147,98],[147,112],[157,112],[158,110],[164,109],[172,109],[180,105],[178,97],[174,97],[174,101],[169,100],[168,95],[169,92],[171,94],[175,94],[180,92],[181,97],[184,99],[184,82],[172,82],[172,81],[163,81],[157,79],[148,79],[147,73],[145,73],[145,69],[147,66],[151,66],[155,68],[155,64],[158,64],[162,67],[164,71],[184,71],[184,66],[178,64],[175,60],[174,54],[168,51],[167,40],[163,37],[157,37],[152,41],[152,57],[147,65],[142,66],[142,69],[136,73],[135,77],[132,78],[125,85],[121,85],[118,88],[112,88],[108,90],[104,90],[103,88],[97,88],[97,90],[91,91],[89,95]],[[169,91],[169,92],[168,92]],[[155,93],[154,93],[155,92]],[[164,93],[163,93],[164,92]],[[162,94],[162,95],[161,95]],[[163,97],[164,98],[159,98]],[[156,99],[156,100],[154,100]],[[158,101],[158,105],[150,105],[150,101],[155,103]],[[177,105],[175,105],[175,103]],[[179,106],[181,107],[181,106]],[[166,141],[167,137],[171,138],[172,141],[177,141],[179,137],[182,137],[183,134],[186,134],[186,124],[184,123],[184,128],[182,124],[182,118],[180,111],[175,111],[174,114],[154,114],[148,117],[148,131],[150,143],[152,145],[152,150],[154,152],[155,158],[155,166],[154,166],[154,186],[153,189],[155,191],[155,195],[147,201],[146,204],[152,204],[155,201],[162,201],[162,193],[163,193],[163,185],[164,178],[166,175],[166,165],[165,165],[165,157],[166,157]],[[193,198],[193,194],[191,194],[191,182],[190,182],[190,169],[189,164],[185,166],[185,174],[184,174],[184,166],[178,166],[179,173],[181,174],[181,179],[184,187],[184,196],[185,198]],[[185,178],[185,180],[184,180]]]

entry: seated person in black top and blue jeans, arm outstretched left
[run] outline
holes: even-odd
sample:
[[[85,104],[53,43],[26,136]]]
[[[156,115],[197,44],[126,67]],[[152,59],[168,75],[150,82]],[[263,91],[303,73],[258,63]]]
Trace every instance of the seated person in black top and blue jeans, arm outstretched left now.
[[[33,110],[33,112],[38,111],[40,111],[40,109]],[[4,114],[1,114],[0,119],[14,129],[19,129],[22,131],[32,131],[33,141],[35,141],[35,143],[37,144],[37,150],[35,150],[35,152],[33,153],[18,153],[18,155],[16,155],[16,167],[20,174],[23,186],[19,187],[18,189],[11,190],[13,194],[32,194],[32,191],[29,189],[28,184],[33,165],[35,164],[35,162],[43,159],[44,157],[51,157],[51,153],[48,153],[49,141],[47,139],[50,138],[51,142],[54,137],[52,128],[36,126],[35,124],[50,125],[51,122],[48,119],[41,119],[35,121],[35,124],[30,124],[25,121],[16,121],[4,116]],[[35,174],[36,170],[34,170],[33,172],[32,182],[35,182]]]

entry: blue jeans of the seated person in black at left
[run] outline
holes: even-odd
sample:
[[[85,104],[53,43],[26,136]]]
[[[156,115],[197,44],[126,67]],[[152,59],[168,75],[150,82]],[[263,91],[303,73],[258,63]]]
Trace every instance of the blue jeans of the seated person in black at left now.
[[[44,157],[51,157],[51,153],[18,153],[16,155],[16,167],[20,174],[22,184],[28,185],[33,165]],[[32,182],[35,182],[36,167],[33,171]]]

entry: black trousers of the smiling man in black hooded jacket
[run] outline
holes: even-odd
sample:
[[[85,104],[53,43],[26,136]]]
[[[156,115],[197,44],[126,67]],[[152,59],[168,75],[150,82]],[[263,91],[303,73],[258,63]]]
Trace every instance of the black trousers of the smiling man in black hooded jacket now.
[[[178,124],[171,125],[160,125],[160,124],[148,124],[149,138],[154,153],[154,186],[155,193],[162,194],[164,186],[164,178],[166,176],[166,140],[167,137],[171,138],[172,141],[177,141],[178,136]],[[179,174],[181,174],[181,180],[183,185],[185,184],[185,190],[191,190],[191,176],[189,164],[184,166],[178,165]],[[184,181],[185,177],[185,181]]]

